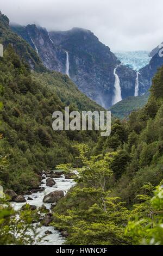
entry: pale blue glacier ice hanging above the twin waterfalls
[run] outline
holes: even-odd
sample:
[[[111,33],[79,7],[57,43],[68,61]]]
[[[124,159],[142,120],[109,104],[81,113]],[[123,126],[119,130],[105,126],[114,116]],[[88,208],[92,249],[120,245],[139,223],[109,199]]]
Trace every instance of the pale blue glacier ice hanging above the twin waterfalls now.
[[[116,52],[116,57],[122,64],[139,71],[141,68],[149,64],[151,57],[148,51],[134,51],[134,52]]]

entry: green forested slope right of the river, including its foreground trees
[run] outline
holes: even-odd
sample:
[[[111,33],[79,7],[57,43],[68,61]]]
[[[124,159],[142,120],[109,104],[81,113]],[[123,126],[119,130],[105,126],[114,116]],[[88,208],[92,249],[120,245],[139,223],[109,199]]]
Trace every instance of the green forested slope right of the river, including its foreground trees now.
[[[78,185],[54,210],[55,227],[70,245],[163,244],[163,68],[153,79],[145,107],[128,121],[115,120],[111,136],[99,137],[93,154],[76,147]],[[158,186],[158,187],[156,187]]]

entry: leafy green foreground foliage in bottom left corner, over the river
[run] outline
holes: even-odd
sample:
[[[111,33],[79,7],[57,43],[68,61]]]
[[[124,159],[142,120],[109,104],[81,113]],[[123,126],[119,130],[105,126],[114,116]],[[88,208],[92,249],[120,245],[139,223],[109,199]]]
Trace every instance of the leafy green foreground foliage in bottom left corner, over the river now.
[[[36,212],[17,212],[6,199],[0,199],[0,245],[33,245],[36,232],[32,225]]]

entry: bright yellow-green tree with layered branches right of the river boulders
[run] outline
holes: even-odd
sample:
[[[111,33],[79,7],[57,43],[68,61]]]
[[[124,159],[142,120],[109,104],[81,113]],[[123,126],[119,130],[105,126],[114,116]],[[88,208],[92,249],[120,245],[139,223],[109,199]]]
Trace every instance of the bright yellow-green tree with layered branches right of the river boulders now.
[[[108,153],[105,156],[91,156],[88,158],[87,154],[90,148],[86,144],[78,144],[76,148],[79,151],[79,157],[77,158],[82,162],[82,167],[73,169],[72,164],[60,164],[57,168],[64,169],[70,173],[77,170],[78,178],[76,181],[86,182],[88,187],[78,188],[76,193],[87,194],[92,203],[98,204],[101,209],[106,211],[106,181],[112,175],[110,164],[112,162],[112,156],[116,155],[116,153],[112,153],[112,155]]]

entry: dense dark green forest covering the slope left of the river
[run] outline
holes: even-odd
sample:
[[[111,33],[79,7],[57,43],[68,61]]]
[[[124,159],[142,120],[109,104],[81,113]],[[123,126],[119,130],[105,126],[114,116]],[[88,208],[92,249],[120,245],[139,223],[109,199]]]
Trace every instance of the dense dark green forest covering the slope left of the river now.
[[[7,156],[8,161],[8,167],[0,173],[4,188],[22,192],[39,186],[37,174],[43,169],[73,161],[76,155],[73,143],[93,145],[97,141],[96,132],[52,129],[53,112],[64,113],[64,106],[70,106],[70,110],[102,109],[80,93],[67,76],[57,72],[32,74],[9,45],[0,60],[0,84],[3,94],[0,155]],[[63,90],[60,99],[58,95]],[[68,102],[71,99],[72,105]]]

